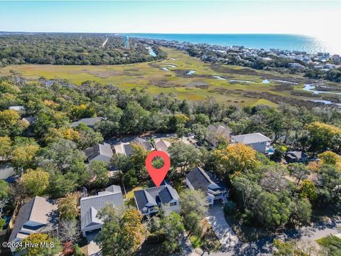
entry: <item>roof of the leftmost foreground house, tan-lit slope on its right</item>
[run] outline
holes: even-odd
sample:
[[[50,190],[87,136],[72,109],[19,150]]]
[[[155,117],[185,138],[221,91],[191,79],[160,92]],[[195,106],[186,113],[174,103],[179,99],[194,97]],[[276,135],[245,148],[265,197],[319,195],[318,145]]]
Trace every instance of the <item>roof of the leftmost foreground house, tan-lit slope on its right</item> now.
[[[46,226],[55,227],[56,217],[57,204],[55,201],[36,196],[20,208],[9,241],[13,241],[17,236],[26,235],[27,232],[24,232],[23,225],[27,223],[28,220],[41,223],[43,225],[42,228]],[[26,230],[29,230],[29,227],[26,227]],[[32,233],[38,231],[39,230],[34,230]]]

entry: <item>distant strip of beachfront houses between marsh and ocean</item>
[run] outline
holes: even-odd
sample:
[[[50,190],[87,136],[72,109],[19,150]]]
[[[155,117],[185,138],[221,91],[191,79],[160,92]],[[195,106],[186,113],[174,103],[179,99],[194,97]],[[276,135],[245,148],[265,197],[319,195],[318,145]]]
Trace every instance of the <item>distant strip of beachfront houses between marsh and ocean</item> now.
[[[190,54],[199,55],[201,60],[212,62],[220,62],[225,64],[233,64],[234,59],[238,61],[238,65],[249,66],[252,60],[264,63],[271,63],[277,58],[287,60],[283,68],[304,69],[314,68],[328,72],[334,68],[341,67],[341,58],[339,54],[330,53],[307,53],[299,50],[283,50],[283,49],[254,49],[244,46],[217,46],[206,43],[190,43],[178,41],[166,41],[156,39],[144,39],[141,41],[159,46],[176,48],[178,50],[186,50]],[[281,67],[278,67],[281,68]]]

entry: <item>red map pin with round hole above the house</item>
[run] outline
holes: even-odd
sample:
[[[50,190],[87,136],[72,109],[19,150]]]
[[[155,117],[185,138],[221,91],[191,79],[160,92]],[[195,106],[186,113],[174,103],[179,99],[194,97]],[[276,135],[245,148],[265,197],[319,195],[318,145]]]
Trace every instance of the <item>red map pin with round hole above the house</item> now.
[[[163,159],[163,162],[165,163],[160,169],[156,169],[153,167],[153,159],[155,157],[161,157]],[[171,159],[169,159],[169,156],[166,152],[155,150],[149,153],[146,157],[146,169],[157,187],[160,186],[163,178],[166,177],[166,174],[168,173],[170,167]]]

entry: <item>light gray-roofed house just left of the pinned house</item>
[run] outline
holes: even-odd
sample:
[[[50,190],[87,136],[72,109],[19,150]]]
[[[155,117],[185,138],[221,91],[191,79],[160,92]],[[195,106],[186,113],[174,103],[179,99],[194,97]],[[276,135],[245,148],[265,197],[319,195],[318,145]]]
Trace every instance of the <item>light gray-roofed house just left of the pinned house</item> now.
[[[80,198],[80,229],[84,237],[92,231],[102,230],[103,222],[97,218],[97,213],[107,205],[123,205],[120,186],[112,185],[99,192],[97,196]]]

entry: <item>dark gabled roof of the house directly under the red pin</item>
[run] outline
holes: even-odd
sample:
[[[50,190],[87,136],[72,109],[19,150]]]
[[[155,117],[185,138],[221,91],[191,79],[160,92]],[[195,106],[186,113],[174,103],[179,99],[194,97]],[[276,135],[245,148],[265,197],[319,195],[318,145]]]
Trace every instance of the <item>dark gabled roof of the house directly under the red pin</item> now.
[[[171,202],[173,199],[179,200],[178,192],[169,185],[159,186],[158,188],[146,188],[139,191],[134,191],[135,200],[139,210],[144,207],[158,206],[158,201],[162,204]]]

